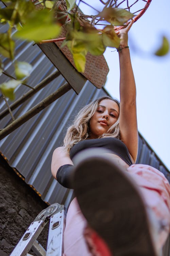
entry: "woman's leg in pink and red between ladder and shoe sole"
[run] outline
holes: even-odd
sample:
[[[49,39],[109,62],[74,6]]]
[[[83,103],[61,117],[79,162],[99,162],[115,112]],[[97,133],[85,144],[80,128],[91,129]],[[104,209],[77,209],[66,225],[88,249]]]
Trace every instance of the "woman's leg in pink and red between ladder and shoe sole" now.
[[[88,226],[80,210],[77,198],[74,198],[66,217],[63,256],[99,255],[111,256],[111,253],[106,243]]]

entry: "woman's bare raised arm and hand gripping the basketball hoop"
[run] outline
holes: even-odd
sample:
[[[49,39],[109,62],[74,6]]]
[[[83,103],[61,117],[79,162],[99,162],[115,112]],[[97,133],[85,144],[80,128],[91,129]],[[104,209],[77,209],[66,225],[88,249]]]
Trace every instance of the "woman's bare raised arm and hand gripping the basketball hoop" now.
[[[120,139],[128,147],[134,162],[138,152],[138,129],[136,116],[136,85],[128,46],[128,31],[131,23],[117,33],[120,37]]]

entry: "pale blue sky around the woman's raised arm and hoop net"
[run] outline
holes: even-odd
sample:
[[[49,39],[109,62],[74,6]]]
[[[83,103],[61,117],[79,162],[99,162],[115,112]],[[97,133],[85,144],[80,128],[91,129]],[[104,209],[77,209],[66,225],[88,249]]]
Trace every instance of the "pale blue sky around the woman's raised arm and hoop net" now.
[[[100,9],[99,0],[86,2]],[[91,13],[86,8],[80,5],[84,13]],[[169,10],[169,0],[152,0],[129,32],[129,47],[137,88],[138,130],[170,170],[170,53],[154,55],[164,35],[170,42]],[[107,47],[104,53],[109,67],[105,88],[119,99],[119,59],[113,50]]]

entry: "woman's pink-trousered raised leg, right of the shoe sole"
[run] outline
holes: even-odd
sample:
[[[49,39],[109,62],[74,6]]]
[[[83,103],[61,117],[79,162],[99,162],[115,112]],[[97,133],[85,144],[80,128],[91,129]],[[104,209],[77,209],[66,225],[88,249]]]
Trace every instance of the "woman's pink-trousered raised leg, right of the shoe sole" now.
[[[132,165],[128,173],[138,185],[149,212],[158,223],[158,247],[161,248],[170,231],[170,185],[164,174],[148,165]]]

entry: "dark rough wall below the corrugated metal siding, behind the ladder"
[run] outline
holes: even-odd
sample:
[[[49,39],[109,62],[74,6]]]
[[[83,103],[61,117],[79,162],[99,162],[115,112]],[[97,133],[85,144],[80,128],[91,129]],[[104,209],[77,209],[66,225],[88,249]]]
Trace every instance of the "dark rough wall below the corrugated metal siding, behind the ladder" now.
[[[47,206],[0,156],[0,256],[10,255],[27,227]],[[48,226],[38,238],[45,247],[47,233]]]

